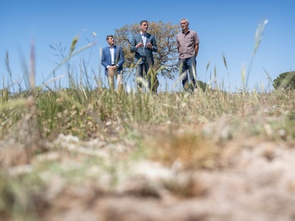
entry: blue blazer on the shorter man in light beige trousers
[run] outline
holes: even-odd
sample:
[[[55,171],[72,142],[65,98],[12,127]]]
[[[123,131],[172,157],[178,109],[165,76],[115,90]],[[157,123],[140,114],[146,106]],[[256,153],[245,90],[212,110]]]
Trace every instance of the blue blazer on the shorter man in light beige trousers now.
[[[125,62],[122,47],[114,45],[115,48],[115,65],[118,65],[118,71],[123,70],[123,63]],[[105,75],[108,75],[108,65],[112,64],[112,57],[110,55],[110,47],[103,48],[103,55],[101,55],[101,65],[105,67]]]

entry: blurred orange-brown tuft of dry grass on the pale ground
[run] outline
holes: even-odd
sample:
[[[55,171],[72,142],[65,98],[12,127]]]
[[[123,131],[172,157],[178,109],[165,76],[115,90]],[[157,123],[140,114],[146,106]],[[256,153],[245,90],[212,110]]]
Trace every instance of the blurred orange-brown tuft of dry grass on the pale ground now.
[[[182,125],[178,129],[155,131],[145,138],[143,144],[148,158],[167,166],[180,163],[183,168],[213,168],[218,156],[218,147],[205,138],[196,126]]]

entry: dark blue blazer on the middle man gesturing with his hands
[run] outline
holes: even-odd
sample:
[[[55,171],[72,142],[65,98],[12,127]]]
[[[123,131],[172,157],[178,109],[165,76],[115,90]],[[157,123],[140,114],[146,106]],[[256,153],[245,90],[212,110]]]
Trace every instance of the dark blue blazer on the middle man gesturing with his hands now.
[[[145,58],[146,60],[148,60],[148,63],[151,63],[151,65],[154,65],[154,56],[152,55],[152,52],[157,52],[157,43],[155,41],[155,36],[150,33],[147,33],[146,42],[152,43],[152,49],[146,48],[146,47],[135,48],[135,45],[140,43],[140,41],[143,41],[143,38],[141,37],[140,33],[135,34],[131,40],[130,52],[135,53],[134,63],[142,64],[143,60],[141,60],[140,63],[138,63],[138,60],[140,60],[140,58]]]

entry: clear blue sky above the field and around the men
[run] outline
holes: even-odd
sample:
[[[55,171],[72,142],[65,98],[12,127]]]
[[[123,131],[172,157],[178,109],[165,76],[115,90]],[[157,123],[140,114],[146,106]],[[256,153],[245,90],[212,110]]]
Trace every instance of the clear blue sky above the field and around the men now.
[[[78,55],[76,60],[78,63],[83,56],[95,75],[103,75],[103,71],[98,70],[99,49],[106,45],[107,34],[143,19],[179,24],[180,18],[188,18],[190,29],[197,31],[200,38],[198,80],[208,82],[215,68],[219,87],[223,82],[224,89],[230,84],[231,90],[235,91],[242,88],[242,70],[245,70],[249,73],[250,90],[255,87],[267,89],[268,75],[274,80],[281,72],[295,70],[294,11],[293,0],[4,0],[0,2],[0,88],[11,85],[11,80],[15,88],[16,82],[24,84],[22,78],[25,68],[29,68],[32,40],[36,48],[36,85],[41,85],[53,77],[51,72],[58,63],[56,52],[49,45],[61,43],[68,49],[75,36],[80,36],[77,49],[88,41],[95,41],[95,46]],[[268,23],[249,72],[255,31],[265,20]],[[94,39],[93,32],[97,33]],[[9,53],[12,77],[6,70],[6,51]],[[207,63],[210,65],[206,72]],[[77,66],[73,65],[78,69]],[[79,70],[76,72],[79,74]],[[64,74],[66,71],[63,68],[56,71],[56,75]],[[62,84],[67,85],[66,81],[67,78],[63,77]],[[165,80],[160,78],[160,83],[163,88]],[[173,87],[173,82],[169,85],[170,90],[181,88],[180,85]]]

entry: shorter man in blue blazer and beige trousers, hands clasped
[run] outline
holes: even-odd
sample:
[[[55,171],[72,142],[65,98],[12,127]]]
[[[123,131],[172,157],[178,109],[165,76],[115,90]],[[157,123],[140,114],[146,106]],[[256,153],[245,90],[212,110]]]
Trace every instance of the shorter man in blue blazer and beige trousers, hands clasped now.
[[[117,79],[119,90],[123,90],[123,63],[124,55],[122,47],[115,45],[114,36],[106,36],[108,46],[103,48],[101,64],[105,67],[105,75],[108,76],[108,85],[114,89],[114,76]]]

